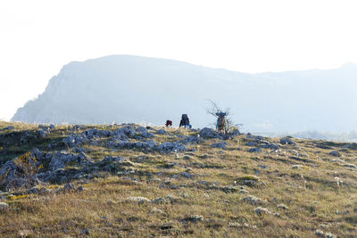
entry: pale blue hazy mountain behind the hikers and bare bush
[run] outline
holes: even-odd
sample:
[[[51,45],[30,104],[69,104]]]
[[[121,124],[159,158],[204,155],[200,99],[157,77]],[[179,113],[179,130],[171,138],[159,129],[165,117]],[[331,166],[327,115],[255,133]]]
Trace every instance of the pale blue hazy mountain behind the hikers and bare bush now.
[[[112,55],[71,62],[13,121],[179,124],[214,121],[208,100],[229,107],[245,131],[342,133],[357,128],[357,65],[335,70],[240,73],[165,59]]]

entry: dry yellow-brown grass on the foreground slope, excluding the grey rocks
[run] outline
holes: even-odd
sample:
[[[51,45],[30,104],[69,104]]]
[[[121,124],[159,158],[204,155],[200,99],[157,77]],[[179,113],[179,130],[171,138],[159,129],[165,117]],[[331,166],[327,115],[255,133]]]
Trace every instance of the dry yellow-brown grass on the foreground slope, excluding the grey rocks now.
[[[7,126],[15,127],[12,132],[37,130],[36,125],[0,122],[0,128]],[[0,135],[8,133],[11,132],[2,131]],[[0,160],[12,159],[32,147],[42,151],[66,149],[61,145],[49,149],[47,144],[60,142],[68,133],[67,127],[56,127],[49,138],[3,146]],[[180,134],[195,135],[185,130]],[[337,236],[355,237],[356,170],[331,162],[336,157],[329,152],[340,151],[341,160],[357,164],[357,151],[343,149],[341,144],[320,149],[316,144],[321,142],[293,139],[298,146],[284,145],[281,152],[262,149],[260,153],[252,153],[247,152],[251,147],[245,146],[244,138],[245,135],[241,135],[229,140],[226,150],[212,148],[210,145],[218,141],[207,140],[203,144],[189,145],[195,148],[195,153],[176,154],[87,146],[90,149],[87,154],[95,160],[107,155],[131,160],[135,172],[126,176],[103,173],[87,181],[72,181],[85,188],[81,193],[4,198],[12,209],[0,212],[0,234],[78,236],[88,228],[91,236],[311,237],[320,229]],[[163,142],[178,138],[155,135],[154,140]],[[278,139],[271,140],[278,142]],[[308,157],[305,161],[291,159],[296,153],[305,153]],[[177,165],[167,168],[170,163]],[[303,166],[293,168],[296,164]],[[266,168],[262,168],[264,166]],[[189,172],[193,177],[175,176],[181,172]],[[250,175],[258,176],[265,185],[245,187],[247,194],[224,193],[213,186],[234,185],[235,181],[239,183],[240,177]],[[343,185],[336,184],[336,176],[344,181]],[[178,185],[178,188],[172,189],[171,185]],[[129,196],[153,200],[169,194],[175,201],[158,204],[127,201]],[[248,194],[266,202],[262,205],[245,203],[242,198]],[[279,209],[278,204],[285,204],[287,209]],[[270,209],[280,216],[258,216],[253,211],[257,207]],[[192,215],[203,216],[203,220],[185,221]]]

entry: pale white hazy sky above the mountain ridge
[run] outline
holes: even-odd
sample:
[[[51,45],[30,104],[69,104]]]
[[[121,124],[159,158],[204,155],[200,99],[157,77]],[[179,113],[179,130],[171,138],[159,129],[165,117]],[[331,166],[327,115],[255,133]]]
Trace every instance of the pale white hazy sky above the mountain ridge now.
[[[1,0],[0,119],[62,65],[135,54],[244,72],[357,62],[357,1]]]

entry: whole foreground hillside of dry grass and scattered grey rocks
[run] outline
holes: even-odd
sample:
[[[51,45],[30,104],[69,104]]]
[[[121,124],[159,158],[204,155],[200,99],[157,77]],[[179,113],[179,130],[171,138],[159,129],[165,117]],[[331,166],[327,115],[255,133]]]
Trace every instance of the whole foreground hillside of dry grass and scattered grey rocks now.
[[[0,122],[0,233],[355,237],[356,155],[209,128]]]

